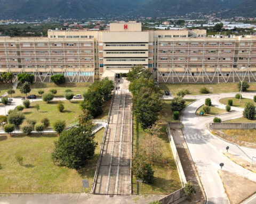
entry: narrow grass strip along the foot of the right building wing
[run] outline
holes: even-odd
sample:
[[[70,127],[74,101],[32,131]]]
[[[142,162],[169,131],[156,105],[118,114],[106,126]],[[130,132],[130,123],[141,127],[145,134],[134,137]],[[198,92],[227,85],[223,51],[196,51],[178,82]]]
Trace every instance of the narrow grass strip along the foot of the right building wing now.
[[[210,90],[210,94],[219,94],[227,92],[239,92],[237,83],[161,83],[159,88],[169,90],[175,96],[180,90],[188,89],[189,95],[202,95],[200,89],[206,87]],[[211,89],[210,89],[211,87]],[[256,91],[256,83],[250,83],[248,91]]]

